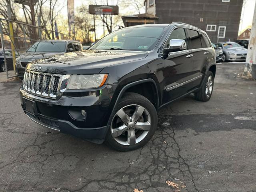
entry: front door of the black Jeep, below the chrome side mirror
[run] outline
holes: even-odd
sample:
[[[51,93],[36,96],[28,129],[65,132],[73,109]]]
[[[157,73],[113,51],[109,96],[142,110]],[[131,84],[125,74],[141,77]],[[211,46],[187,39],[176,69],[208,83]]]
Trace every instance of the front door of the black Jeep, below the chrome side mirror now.
[[[186,45],[188,45],[185,28],[175,28],[166,41],[164,48],[169,46],[171,39],[185,40]],[[186,83],[192,78],[193,73],[193,62],[190,54],[191,50],[187,47],[186,50],[169,53],[167,58],[164,59],[164,68],[162,69],[164,81],[163,104],[186,94],[190,90],[190,84]]]

